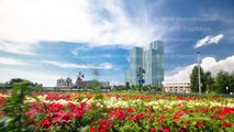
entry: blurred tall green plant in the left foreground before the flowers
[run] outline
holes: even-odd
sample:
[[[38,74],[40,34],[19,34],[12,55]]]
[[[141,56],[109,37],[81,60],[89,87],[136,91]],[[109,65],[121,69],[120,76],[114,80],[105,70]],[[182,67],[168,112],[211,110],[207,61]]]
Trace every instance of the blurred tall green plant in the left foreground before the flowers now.
[[[0,131],[33,131],[33,125],[29,127],[24,123],[27,120],[25,112],[29,110],[29,105],[24,102],[24,99],[26,96],[31,96],[30,81],[13,82],[11,87],[12,95],[4,101],[1,108],[3,117],[0,118]]]

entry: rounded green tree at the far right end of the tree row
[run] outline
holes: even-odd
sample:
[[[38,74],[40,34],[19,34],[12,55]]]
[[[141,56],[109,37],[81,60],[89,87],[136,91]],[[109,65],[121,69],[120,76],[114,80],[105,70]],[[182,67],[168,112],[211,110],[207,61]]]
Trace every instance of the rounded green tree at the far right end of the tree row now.
[[[232,75],[231,75],[232,76]],[[215,86],[216,86],[216,92],[219,94],[227,94],[226,87],[232,88],[231,78],[229,73],[226,72],[219,72],[215,77]]]

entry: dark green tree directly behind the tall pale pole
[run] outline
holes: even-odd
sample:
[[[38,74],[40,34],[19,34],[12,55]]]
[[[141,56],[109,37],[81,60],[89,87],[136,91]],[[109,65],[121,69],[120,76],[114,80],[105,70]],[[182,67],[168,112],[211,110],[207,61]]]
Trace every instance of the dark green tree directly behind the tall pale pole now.
[[[204,92],[205,91],[205,84],[204,84],[205,82],[205,75],[204,75],[202,67],[200,67],[200,77],[201,77],[201,91]],[[191,87],[192,92],[199,91],[198,66],[193,67],[192,73],[190,75],[190,87]]]

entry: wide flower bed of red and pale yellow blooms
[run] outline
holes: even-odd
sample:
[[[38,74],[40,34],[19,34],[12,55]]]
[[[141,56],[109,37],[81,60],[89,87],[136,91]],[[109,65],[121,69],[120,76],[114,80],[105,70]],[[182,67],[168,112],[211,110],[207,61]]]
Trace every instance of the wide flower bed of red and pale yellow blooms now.
[[[143,94],[35,92],[24,123],[34,131],[233,131],[234,99]],[[0,94],[0,106],[11,95]],[[4,117],[0,112],[0,117]]]

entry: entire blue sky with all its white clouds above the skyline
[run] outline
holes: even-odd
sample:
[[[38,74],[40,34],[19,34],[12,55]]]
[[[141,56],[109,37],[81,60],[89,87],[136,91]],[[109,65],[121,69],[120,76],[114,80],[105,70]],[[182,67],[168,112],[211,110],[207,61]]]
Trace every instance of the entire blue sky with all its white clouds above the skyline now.
[[[233,0],[0,0],[0,81],[55,86],[78,72],[124,82],[129,51],[165,43],[165,79],[185,80],[201,52],[215,75],[234,70]],[[197,46],[196,46],[197,45]]]

